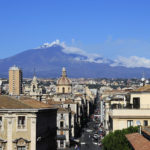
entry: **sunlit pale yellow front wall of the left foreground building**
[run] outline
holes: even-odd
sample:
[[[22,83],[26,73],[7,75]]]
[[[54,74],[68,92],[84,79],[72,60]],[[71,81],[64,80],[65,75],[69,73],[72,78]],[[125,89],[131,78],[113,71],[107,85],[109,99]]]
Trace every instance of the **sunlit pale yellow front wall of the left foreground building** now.
[[[32,122],[34,119],[36,121],[36,114],[34,113],[0,113],[2,116],[2,128],[0,129],[0,138],[6,140],[6,147],[4,150],[16,150],[16,143],[13,141],[19,138],[24,138],[28,141],[28,150],[36,150],[35,147],[35,134],[36,134],[36,122]],[[25,128],[18,128],[18,116],[25,116]]]

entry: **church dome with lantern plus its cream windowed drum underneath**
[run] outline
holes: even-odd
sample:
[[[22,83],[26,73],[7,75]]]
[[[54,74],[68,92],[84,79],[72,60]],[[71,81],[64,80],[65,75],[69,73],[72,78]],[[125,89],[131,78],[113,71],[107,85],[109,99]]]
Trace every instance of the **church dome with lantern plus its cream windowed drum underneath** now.
[[[62,68],[62,76],[57,80],[56,87],[57,94],[70,94],[72,93],[71,80],[67,78],[66,69]]]

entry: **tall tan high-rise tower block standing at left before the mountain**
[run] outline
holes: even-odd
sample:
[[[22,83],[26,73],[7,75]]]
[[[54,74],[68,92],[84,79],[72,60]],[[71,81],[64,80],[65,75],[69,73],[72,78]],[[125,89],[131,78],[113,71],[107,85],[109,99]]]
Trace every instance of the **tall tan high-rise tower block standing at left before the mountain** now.
[[[20,95],[22,93],[22,71],[16,66],[9,69],[9,94]]]

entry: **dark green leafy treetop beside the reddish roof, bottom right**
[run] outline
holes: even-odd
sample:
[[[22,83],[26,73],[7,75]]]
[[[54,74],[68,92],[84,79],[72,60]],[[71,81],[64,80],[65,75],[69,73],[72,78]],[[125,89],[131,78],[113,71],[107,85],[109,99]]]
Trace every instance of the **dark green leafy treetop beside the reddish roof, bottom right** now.
[[[125,135],[134,132],[138,132],[138,127],[129,127],[110,132],[102,140],[103,150],[131,150]]]

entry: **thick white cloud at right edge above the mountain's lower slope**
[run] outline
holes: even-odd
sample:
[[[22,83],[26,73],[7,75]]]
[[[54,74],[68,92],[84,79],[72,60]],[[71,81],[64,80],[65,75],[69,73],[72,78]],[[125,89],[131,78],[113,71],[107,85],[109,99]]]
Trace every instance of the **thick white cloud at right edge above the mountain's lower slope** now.
[[[119,56],[111,66],[124,66],[127,68],[145,67],[150,68],[150,59],[138,56],[131,56],[129,58]]]

